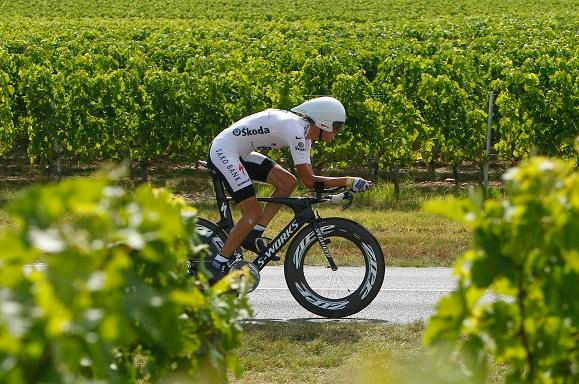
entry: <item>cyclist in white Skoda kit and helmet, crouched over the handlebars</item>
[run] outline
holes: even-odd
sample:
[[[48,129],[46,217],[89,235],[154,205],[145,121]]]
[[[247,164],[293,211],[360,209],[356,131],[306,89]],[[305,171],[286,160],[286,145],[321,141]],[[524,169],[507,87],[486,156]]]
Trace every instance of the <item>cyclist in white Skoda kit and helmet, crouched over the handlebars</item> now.
[[[256,151],[289,147],[297,174],[307,188],[347,187],[362,192],[371,186],[371,182],[360,177],[323,177],[312,171],[312,141],[333,140],[345,121],[342,103],[332,97],[318,97],[290,111],[267,109],[247,116],[215,137],[208,164],[221,175],[239,205],[241,218],[210,264],[212,283],[229,272],[233,253],[240,245],[256,253],[267,245],[263,232],[281,205],[267,203],[262,210],[251,180],[272,184],[273,197],[289,197],[296,187],[293,174]]]

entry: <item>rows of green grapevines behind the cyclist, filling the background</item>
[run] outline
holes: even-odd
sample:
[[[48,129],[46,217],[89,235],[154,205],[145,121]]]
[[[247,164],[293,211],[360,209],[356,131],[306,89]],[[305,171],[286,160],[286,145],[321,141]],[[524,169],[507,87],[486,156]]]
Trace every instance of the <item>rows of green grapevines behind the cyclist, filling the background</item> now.
[[[490,91],[499,159],[576,156],[575,1],[35,3],[0,4],[0,158],[193,162],[247,114],[332,95],[347,129],[318,168],[480,166]]]

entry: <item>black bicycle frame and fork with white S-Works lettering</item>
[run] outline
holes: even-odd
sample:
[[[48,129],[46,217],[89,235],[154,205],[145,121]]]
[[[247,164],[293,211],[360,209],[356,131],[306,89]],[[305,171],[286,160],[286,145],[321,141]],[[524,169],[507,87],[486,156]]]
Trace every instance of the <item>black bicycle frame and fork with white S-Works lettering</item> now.
[[[230,201],[233,199],[226,196],[223,182],[219,175],[211,168],[209,168],[209,173],[213,180],[213,189],[215,190],[215,197],[217,199],[217,208],[219,209],[219,215],[221,217],[219,222],[217,222],[217,226],[229,234],[234,225],[231,207],[229,205]],[[252,261],[253,264],[262,270],[267,263],[271,261],[271,258],[291,240],[297,231],[299,231],[305,224],[312,223],[330,267],[333,270],[337,269],[324,241],[322,231],[317,223],[318,217],[316,217],[312,209],[312,204],[320,203],[320,199],[313,197],[258,197],[257,200],[266,203],[273,202],[286,205],[294,211],[295,216],[292,221],[290,221],[290,223],[286,225],[285,228],[269,243],[268,247],[257,255],[257,257]]]

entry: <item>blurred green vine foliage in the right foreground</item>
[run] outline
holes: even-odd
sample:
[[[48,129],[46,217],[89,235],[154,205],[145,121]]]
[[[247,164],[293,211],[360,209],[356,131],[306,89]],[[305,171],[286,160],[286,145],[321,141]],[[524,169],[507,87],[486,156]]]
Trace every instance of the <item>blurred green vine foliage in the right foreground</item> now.
[[[430,202],[473,231],[425,341],[484,382],[489,357],[507,383],[579,382],[579,174],[537,157],[504,175],[507,194]],[[483,297],[484,295],[484,297]]]

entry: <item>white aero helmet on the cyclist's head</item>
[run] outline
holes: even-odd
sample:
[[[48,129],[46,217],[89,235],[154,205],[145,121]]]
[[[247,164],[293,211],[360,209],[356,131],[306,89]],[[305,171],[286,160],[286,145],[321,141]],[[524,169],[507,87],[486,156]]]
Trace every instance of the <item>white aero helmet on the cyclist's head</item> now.
[[[344,106],[333,97],[324,96],[308,100],[291,111],[309,117],[314,124],[327,132],[334,130],[334,123],[346,122]]]

